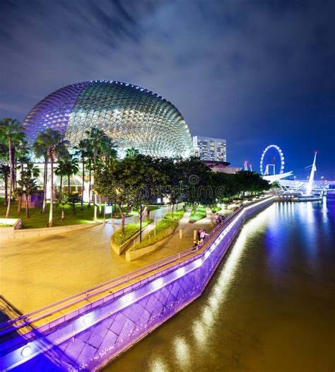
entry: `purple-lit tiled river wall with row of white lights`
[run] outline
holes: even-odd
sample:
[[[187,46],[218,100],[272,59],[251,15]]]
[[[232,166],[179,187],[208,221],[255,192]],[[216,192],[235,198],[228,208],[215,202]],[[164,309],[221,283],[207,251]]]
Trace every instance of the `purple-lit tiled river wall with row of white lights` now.
[[[130,285],[112,301],[41,335],[37,341],[43,352],[15,370],[93,371],[106,364],[200,296],[243,221],[272,202],[240,211],[201,254]]]

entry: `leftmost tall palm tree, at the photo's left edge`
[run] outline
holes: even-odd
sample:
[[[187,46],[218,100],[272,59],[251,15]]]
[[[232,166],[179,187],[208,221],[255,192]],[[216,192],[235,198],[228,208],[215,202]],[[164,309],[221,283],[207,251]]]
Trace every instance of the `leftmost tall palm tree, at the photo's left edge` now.
[[[25,134],[23,133],[22,125],[18,120],[5,117],[3,120],[0,120],[0,136],[2,139],[6,139],[6,141],[8,141],[8,158],[10,167],[10,184],[6,210],[6,219],[8,219],[9,212],[11,211],[11,198],[14,188],[13,141],[20,141]]]

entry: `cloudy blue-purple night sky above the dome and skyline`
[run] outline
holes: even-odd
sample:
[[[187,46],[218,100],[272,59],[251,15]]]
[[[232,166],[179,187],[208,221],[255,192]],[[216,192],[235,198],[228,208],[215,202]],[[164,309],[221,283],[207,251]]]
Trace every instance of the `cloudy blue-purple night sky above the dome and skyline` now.
[[[69,83],[163,95],[192,135],[259,169],[277,144],[298,178],[335,180],[335,1],[0,0],[0,117]]]

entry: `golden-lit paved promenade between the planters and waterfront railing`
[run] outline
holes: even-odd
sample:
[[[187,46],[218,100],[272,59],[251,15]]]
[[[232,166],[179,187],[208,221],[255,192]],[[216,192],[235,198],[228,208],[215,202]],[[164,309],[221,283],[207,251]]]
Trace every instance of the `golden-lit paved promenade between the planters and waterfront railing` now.
[[[0,293],[28,313],[105,281],[134,271],[193,245],[193,231],[213,228],[214,216],[187,223],[189,212],[165,245],[151,255],[127,262],[110,248],[110,224],[56,236],[0,242]]]

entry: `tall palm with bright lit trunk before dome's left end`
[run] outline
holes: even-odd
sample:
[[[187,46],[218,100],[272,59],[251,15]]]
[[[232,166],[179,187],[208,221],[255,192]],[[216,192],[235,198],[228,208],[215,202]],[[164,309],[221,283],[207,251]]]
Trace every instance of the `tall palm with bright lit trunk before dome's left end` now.
[[[47,157],[50,160],[50,209],[48,227],[54,226],[52,220],[54,204],[54,160],[67,153],[66,145],[69,141],[63,139],[63,134],[56,129],[47,128],[45,132],[40,132],[37,141],[45,144],[47,148]]]

